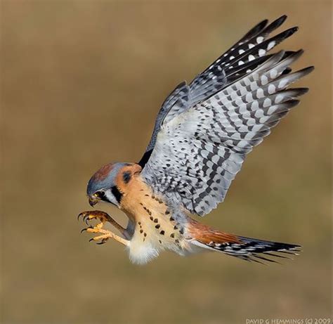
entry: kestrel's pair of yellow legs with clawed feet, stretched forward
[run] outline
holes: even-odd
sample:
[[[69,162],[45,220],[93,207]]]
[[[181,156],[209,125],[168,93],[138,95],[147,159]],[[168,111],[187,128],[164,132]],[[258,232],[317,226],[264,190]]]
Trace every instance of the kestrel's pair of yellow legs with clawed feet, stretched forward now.
[[[98,223],[96,226],[94,226],[94,227],[90,226],[88,228],[84,228],[81,231],[81,232],[86,231],[89,233],[100,233],[101,234],[101,235],[95,236],[94,238],[91,238],[91,240],[93,240],[93,241],[100,240],[100,242],[98,244],[103,244],[109,238],[113,238],[124,245],[129,245],[128,240],[125,240],[124,238],[121,238],[120,236],[116,235],[115,233],[112,233],[111,231],[107,231],[103,228],[104,224],[106,222],[109,222],[113,226],[115,226],[115,228],[117,228],[117,230],[119,230],[120,233],[123,234],[125,231],[125,228],[123,228],[121,225],[119,225],[119,223],[117,223],[117,221],[115,221],[115,219],[112,219],[112,217],[109,214],[107,214],[105,212],[100,212],[99,210],[93,210],[93,211],[89,211],[89,212],[81,212],[81,214],[79,214],[79,216],[77,218],[79,219],[80,216],[83,217],[83,220],[87,225],[89,225],[89,221],[91,219],[100,220],[100,223]],[[91,240],[89,240],[89,241],[91,241]]]

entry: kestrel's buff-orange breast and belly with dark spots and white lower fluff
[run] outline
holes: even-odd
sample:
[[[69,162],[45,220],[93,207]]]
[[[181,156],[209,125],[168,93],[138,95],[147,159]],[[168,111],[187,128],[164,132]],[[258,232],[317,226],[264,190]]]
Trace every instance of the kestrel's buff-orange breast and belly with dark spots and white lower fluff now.
[[[135,223],[129,245],[129,256],[133,262],[145,263],[157,257],[161,250],[183,254],[187,244],[186,222],[179,221],[174,208],[163,197],[152,193],[141,179],[131,183],[120,207]]]

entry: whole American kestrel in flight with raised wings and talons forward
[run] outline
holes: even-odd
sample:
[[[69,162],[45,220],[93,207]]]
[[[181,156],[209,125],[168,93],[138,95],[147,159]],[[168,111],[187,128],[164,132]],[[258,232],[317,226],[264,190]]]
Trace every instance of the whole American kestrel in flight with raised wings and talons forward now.
[[[268,55],[297,30],[268,38],[286,18],[259,22],[190,84],[179,84],[162,104],[140,162],[106,164],[91,177],[90,205],[110,202],[129,218],[123,228],[105,212],[81,213],[86,223],[100,220],[83,230],[97,234],[91,240],[121,242],[138,264],[163,250],[217,251],[259,262],[282,257],[276,252],[299,251],[299,245],[224,233],[191,217],[208,214],[224,200],[246,155],[308,91],[289,88],[313,70],[292,72],[290,65],[303,51]],[[105,222],[122,237],[103,228]]]

